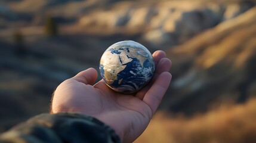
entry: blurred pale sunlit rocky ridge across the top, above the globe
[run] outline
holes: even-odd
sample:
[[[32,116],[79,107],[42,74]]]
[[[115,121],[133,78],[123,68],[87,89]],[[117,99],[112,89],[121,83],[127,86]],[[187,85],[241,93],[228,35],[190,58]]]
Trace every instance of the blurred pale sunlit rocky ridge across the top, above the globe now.
[[[45,18],[51,16],[61,26],[66,26],[61,29],[63,33],[140,34],[142,42],[162,49],[183,43],[254,5],[254,1],[205,0],[6,1],[0,7],[0,27],[22,29],[26,26],[41,26]]]

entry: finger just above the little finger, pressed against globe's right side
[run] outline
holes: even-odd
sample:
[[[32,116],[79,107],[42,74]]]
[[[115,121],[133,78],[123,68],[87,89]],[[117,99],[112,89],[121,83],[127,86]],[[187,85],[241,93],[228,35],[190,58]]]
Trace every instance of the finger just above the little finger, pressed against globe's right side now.
[[[135,96],[140,98],[140,100],[143,100],[144,95],[146,94],[147,91],[149,91],[153,82],[158,78],[159,74],[161,74],[165,71],[169,71],[169,69],[171,68],[171,64],[172,64],[171,60],[169,60],[168,58],[162,58],[156,67],[156,71],[155,71],[154,76],[152,77],[152,80],[150,81],[150,83],[147,86],[145,86],[143,89],[138,91]]]

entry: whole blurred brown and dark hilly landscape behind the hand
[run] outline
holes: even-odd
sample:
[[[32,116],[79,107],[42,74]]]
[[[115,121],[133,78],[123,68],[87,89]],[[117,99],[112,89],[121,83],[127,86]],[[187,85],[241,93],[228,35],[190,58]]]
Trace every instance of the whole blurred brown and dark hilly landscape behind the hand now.
[[[168,92],[135,142],[256,142],[255,4],[0,0],[0,132],[48,112],[58,84],[130,39],[172,60]]]

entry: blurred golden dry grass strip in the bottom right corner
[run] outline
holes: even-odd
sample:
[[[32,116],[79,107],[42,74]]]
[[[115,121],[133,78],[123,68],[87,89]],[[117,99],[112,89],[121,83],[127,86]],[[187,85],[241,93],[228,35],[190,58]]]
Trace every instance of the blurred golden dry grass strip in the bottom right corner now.
[[[190,119],[158,113],[135,142],[256,142],[256,98]]]

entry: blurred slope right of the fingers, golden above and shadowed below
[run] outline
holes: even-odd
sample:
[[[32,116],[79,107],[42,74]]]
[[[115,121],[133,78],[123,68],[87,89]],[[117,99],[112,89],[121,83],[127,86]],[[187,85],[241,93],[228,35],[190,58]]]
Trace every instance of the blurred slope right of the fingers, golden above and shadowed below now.
[[[256,94],[255,16],[254,7],[168,50],[175,91],[169,109],[190,113],[212,101],[245,102]]]

